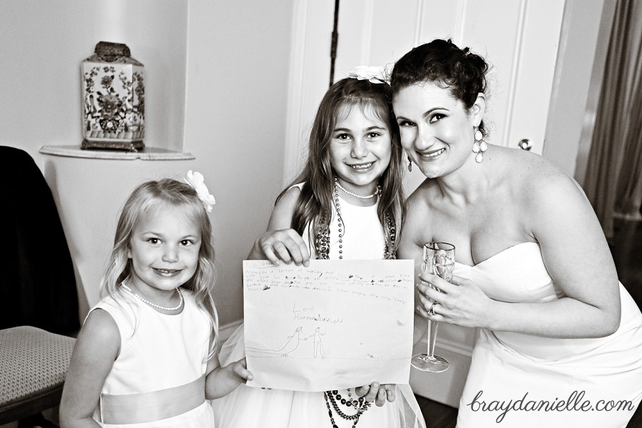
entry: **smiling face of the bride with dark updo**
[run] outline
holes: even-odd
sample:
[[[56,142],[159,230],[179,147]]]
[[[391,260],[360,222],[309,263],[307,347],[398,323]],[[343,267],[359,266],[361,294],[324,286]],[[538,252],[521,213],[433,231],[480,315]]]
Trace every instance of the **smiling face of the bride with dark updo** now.
[[[474,163],[474,127],[479,126],[484,102],[479,94],[467,110],[449,88],[433,82],[407,86],[394,96],[402,147],[424,175],[441,177]]]

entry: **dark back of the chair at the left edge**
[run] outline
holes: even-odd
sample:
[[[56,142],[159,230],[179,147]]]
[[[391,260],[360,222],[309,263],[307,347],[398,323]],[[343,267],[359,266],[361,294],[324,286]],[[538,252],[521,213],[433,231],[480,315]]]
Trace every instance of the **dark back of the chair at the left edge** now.
[[[0,329],[31,325],[68,334],[80,328],[73,263],[54,197],[40,168],[19,148],[0,146]]]

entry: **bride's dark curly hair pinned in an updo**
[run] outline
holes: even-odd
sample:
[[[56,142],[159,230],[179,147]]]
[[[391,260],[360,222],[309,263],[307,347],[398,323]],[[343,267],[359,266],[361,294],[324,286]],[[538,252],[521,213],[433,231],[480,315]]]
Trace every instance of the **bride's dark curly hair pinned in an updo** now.
[[[390,77],[392,96],[414,84],[435,82],[449,88],[469,110],[477,94],[486,93],[488,68],[484,58],[468,48],[459,49],[451,39],[434,39],[412,49],[394,64]],[[479,123],[479,131],[486,136],[484,121]]]

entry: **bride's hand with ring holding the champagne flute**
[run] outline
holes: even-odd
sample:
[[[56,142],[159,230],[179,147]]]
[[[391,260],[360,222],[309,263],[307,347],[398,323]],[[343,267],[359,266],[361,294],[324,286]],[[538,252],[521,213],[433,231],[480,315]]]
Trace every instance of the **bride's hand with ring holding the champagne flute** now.
[[[437,275],[422,273],[417,284],[421,305],[419,314],[429,320],[463,327],[489,327],[494,315],[494,300],[487,297],[471,280],[453,276],[452,283]],[[434,290],[430,285],[439,288]],[[433,305],[434,303],[434,305]],[[432,307],[434,315],[429,313]]]

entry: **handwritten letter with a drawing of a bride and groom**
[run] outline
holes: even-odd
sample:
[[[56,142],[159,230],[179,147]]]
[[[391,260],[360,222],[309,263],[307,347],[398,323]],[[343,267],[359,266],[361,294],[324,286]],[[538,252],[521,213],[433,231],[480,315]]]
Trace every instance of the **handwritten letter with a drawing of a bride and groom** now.
[[[324,391],[409,382],[412,260],[243,262],[248,385]]]

